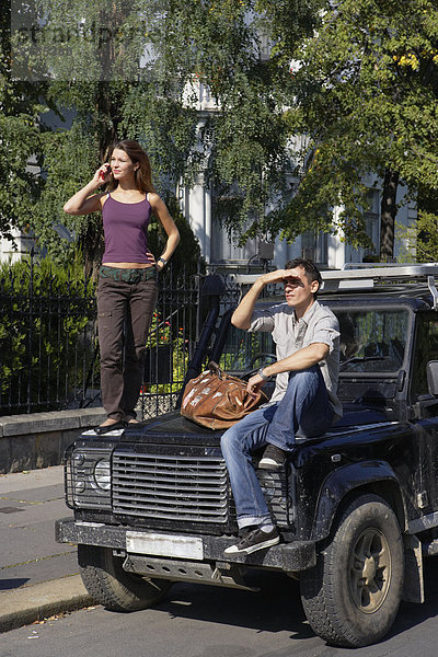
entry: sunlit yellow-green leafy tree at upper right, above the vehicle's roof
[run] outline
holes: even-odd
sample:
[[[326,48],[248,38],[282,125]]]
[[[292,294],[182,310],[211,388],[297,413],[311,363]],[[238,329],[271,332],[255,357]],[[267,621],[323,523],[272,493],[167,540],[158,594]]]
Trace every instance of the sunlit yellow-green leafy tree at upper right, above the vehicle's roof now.
[[[411,198],[420,187],[438,188],[436,2],[315,2],[314,32],[295,43],[283,37],[291,3],[263,5],[277,37],[274,56],[297,62],[290,132],[307,136],[289,224],[280,216],[275,226],[285,227],[291,240],[306,217],[320,229],[342,230],[351,244],[365,243],[362,180],[376,172],[383,182],[380,255],[391,256],[399,182]],[[333,208],[339,205],[344,211],[335,224]]]

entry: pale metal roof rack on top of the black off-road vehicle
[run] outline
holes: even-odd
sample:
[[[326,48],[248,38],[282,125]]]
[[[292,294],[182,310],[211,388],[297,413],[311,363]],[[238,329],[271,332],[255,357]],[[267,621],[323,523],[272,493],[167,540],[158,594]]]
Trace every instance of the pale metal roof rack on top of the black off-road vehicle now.
[[[237,285],[253,285],[260,274],[234,274],[233,280]],[[325,269],[321,272],[323,285],[321,290],[355,290],[369,289],[377,283],[427,283],[434,299],[434,310],[438,310],[438,290],[435,278],[438,277],[438,264],[427,263],[424,265],[412,264],[373,264],[348,263],[342,269]]]

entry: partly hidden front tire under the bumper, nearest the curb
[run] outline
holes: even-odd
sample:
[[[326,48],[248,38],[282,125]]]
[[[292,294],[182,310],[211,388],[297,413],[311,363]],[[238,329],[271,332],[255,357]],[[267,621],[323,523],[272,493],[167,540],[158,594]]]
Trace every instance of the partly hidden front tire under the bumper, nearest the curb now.
[[[123,569],[123,557],[108,548],[78,545],[82,581],[99,604],[112,611],[138,611],[160,602],[172,586],[166,579],[149,579]]]

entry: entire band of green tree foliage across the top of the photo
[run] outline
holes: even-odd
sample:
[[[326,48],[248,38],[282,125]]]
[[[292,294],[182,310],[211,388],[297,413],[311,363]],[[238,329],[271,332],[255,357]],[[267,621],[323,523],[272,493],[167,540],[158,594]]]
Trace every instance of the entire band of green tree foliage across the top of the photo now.
[[[203,173],[217,217],[241,242],[314,229],[366,244],[364,176],[389,181],[387,206],[394,181],[411,197],[438,186],[431,0],[33,1],[48,36],[22,48],[38,81],[14,88],[9,127],[20,138],[2,205],[54,251],[61,221],[99,260],[100,221],[61,208],[115,138],[142,142],[161,189]],[[36,122],[42,97],[57,112],[55,129]],[[43,178],[23,173],[30,153]],[[396,208],[387,206],[391,229]]]

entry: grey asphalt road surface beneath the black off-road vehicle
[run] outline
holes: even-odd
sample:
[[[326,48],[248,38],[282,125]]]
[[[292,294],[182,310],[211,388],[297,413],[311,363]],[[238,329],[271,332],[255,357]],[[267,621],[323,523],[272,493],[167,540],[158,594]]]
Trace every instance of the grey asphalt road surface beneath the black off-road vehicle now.
[[[429,573],[436,581],[437,566]],[[101,607],[1,636],[0,657],[436,657],[438,591],[425,606],[403,604],[382,643],[327,646],[306,622],[295,581],[264,576],[260,593],[175,585],[155,609],[130,614]],[[433,588],[431,586],[429,588]]]

